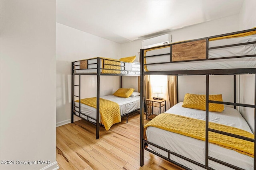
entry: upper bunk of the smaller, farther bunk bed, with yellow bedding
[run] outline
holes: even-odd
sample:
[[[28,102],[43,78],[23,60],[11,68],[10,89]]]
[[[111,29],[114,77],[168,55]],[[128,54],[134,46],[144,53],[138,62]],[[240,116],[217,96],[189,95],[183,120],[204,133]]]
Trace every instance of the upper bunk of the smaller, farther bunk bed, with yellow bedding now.
[[[134,56],[136,57],[136,56]],[[133,57],[133,58],[134,58]],[[109,59],[104,57],[95,57],[72,62],[72,74],[74,75],[114,75],[114,76],[139,76],[140,63],[122,58]],[[134,58],[135,59],[135,58]],[[128,62],[124,62],[128,61]]]

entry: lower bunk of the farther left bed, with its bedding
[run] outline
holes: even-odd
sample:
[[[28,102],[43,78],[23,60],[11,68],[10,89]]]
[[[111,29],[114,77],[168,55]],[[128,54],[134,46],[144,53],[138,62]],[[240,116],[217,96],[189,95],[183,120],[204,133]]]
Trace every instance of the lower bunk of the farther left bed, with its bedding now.
[[[85,100],[89,101],[89,104],[84,104],[83,101]],[[126,116],[126,122],[128,122],[128,115],[131,113],[137,113],[140,109],[140,96],[122,98],[114,95],[108,95],[100,97],[100,104],[103,102],[106,103],[103,107],[100,105],[99,122],[106,130],[109,130],[114,123],[120,122],[121,117]],[[115,109],[111,106],[112,104],[115,104],[118,108]],[[75,109],[73,111],[73,115],[96,125],[97,110],[94,106],[96,106],[96,98],[81,99],[81,102],[76,100],[74,102]]]

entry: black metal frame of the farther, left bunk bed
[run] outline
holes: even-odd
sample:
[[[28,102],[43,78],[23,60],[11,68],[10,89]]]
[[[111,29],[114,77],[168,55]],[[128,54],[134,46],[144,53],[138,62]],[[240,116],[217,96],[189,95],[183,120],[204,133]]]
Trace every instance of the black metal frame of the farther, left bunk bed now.
[[[82,69],[75,69],[75,66],[79,66],[79,65],[75,65],[75,62],[77,61],[73,61],[71,62],[72,64],[72,78],[71,78],[71,96],[72,96],[72,100],[71,100],[71,123],[74,123],[74,115],[76,115],[76,112],[78,112],[78,115],[76,115],[77,117],[80,117],[81,119],[84,119],[85,121],[88,121],[90,123],[92,123],[93,125],[96,125],[96,139],[99,139],[99,136],[100,136],[100,76],[120,76],[120,88],[122,88],[122,76],[139,76],[138,74],[110,74],[110,73],[101,73],[100,70],[117,70],[117,69],[108,69],[108,68],[100,68],[100,60],[103,60],[103,63],[104,61],[108,60],[108,61],[111,61],[109,59],[101,59],[100,57],[97,57],[97,73],[75,73],[75,70],[82,70]],[[124,63],[124,62],[122,62]],[[94,63],[95,64],[95,63]],[[87,63],[87,68],[88,68],[88,63]],[[105,65],[112,65],[112,64],[103,64],[103,66]],[[112,65],[112,66],[116,66],[116,65]],[[121,66],[121,67],[125,67],[125,66]],[[88,69],[91,69],[91,68],[88,68]],[[120,70],[117,70],[117,71],[120,71]],[[97,76],[97,95],[96,95],[96,98],[97,98],[97,108],[96,108],[96,119],[94,119],[93,117],[90,117],[84,113],[81,113],[81,103],[80,103],[80,96],[81,96],[81,76],[83,75],[88,75],[88,76],[92,76],[92,75],[95,75]],[[78,84],[74,84],[74,81],[75,81],[75,76],[79,76],[79,85]],[[74,87],[75,86],[78,86],[79,87],[79,96],[76,96],[74,95],[75,93],[75,89]],[[79,98],[79,107],[78,106],[75,106],[74,104],[74,98],[77,97]],[[79,109],[79,111],[75,111],[75,107]],[[126,116],[126,123],[128,123],[128,116],[130,113],[136,113],[138,112],[140,109],[136,109],[136,110],[133,110],[129,113],[125,113],[124,115],[121,116],[122,117],[125,117]],[[87,118],[84,118],[82,117],[81,115],[83,116],[86,116]],[[96,123],[92,122],[92,121],[89,121],[88,119],[93,119],[96,121]]]

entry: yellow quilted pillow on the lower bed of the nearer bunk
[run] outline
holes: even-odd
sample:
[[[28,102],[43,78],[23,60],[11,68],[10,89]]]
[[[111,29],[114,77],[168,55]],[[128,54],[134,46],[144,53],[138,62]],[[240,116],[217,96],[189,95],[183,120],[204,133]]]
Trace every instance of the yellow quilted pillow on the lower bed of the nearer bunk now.
[[[222,102],[222,94],[209,95],[209,100]],[[189,94],[187,93],[184,97],[182,107],[206,110],[206,95],[202,94]],[[222,112],[224,110],[223,104],[209,103],[209,111]]]

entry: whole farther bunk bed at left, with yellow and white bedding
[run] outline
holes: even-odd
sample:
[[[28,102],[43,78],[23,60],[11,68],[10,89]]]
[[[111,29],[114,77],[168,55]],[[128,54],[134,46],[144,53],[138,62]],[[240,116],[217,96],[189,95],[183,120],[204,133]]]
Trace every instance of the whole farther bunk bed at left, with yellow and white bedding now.
[[[129,58],[129,57],[127,57]],[[135,59],[135,56],[133,57]],[[133,60],[134,60],[133,59]],[[121,60],[121,59],[120,59]],[[96,57],[91,59],[84,59],[72,62],[72,90],[71,90],[71,123],[74,122],[74,115],[96,125],[96,139],[99,138],[100,125],[103,125],[103,119],[100,115],[100,107],[107,110],[108,105],[115,105],[112,112],[105,111],[106,121],[111,117],[112,123],[120,122],[121,117],[126,116],[128,122],[128,115],[136,113],[140,109],[140,97],[134,98],[120,98],[114,95],[100,97],[100,76],[120,76],[120,89],[122,88],[122,76],[140,76],[140,64],[138,62],[130,61],[124,62],[117,59],[108,59],[103,57]],[[127,60],[127,59],[126,59]],[[129,63],[130,62],[130,63]],[[96,98],[82,99],[81,96],[81,76],[95,75],[97,76],[97,95]],[[75,76],[78,76],[78,82],[75,84]],[[78,87],[78,92],[75,92],[75,87]],[[77,100],[75,100],[77,99]],[[83,103],[89,102],[90,104]],[[114,102],[114,103],[113,103]],[[100,103],[102,105],[100,105]],[[87,105],[88,106],[87,106]],[[106,107],[103,107],[105,105]],[[117,106],[116,106],[117,105]],[[129,106],[129,107],[126,107]],[[116,108],[119,107],[119,108]],[[113,107],[114,108],[114,107]],[[120,113],[118,113],[120,112]],[[115,114],[115,117],[111,114]],[[119,114],[119,115],[118,115]],[[114,118],[113,118],[114,117]],[[109,120],[108,120],[109,121]],[[108,130],[111,125],[106,125]]]

